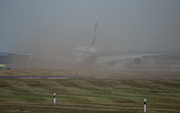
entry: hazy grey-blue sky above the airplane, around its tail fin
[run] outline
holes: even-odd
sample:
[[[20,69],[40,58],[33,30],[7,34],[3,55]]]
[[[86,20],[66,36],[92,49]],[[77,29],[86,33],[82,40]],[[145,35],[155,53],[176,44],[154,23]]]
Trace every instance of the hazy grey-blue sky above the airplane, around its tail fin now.
[[[1,0],[0,52],[180,50],[180,0]]]

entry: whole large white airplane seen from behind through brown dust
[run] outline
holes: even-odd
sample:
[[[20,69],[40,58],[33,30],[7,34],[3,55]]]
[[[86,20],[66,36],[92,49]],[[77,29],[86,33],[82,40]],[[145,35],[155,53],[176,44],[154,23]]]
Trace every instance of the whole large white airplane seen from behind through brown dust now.
[[[52,63],[53,60],[58,61],[62,60],[63,62],[67,62],[69,64],[75,64],[77,66],[99,66],[101,64],[108,64],[109,66],[114,66],[117,61],[119,60],[126,60],[130,59],[133,63],[139,64],[143,57],[152,57],[152,56],[165,56],[169,53],[163,53],[163,54],[133,54],[133,55],[107,55],[107,56],[98,56],[99,54],[103,54],[104,52],[98,52],[98,50],[95,48],[95,41],[96,41],[96,31],[97,31],[97,19],[95,21],[95,27],[93,32],[93,40],[91,43],[91,46],[86,47],[76,47],[74,50],[72,50],[71,58],[57,58],[57,57],[51,57],[47,58],[49,59],[48,62]],[[28,60],[29,62],[33,61],[35,58],[35,55],[33,54],[26,54],[26,53],[8,53],[9,55],[24,55],[29,56]],[[42,56],[45,57],[45,56]],[[57,59],[57,60],[56,60]]]

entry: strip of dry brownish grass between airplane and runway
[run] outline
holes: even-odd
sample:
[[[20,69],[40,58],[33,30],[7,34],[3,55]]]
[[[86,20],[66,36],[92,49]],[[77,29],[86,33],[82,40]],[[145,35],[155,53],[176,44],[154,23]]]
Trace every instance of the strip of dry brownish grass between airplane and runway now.
[[[79,75],[76,75],[76,71],[79,71]],[[83,77],[115,77],[115,76],[126,76],[126,77],[179,77],[180,71],[110,71],[110,70],[48,70],[48,69],[21,69],[21,70],[0,70],[0,77],[17,77],[17,76],[83,76]]]

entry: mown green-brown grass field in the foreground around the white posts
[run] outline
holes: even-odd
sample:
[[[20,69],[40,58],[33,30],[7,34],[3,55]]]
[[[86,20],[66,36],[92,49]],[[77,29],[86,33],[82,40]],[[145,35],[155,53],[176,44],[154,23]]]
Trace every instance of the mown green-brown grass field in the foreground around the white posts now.
[[[179,113],[180,80],[0,80],[2,113],[143,113],[144,99],[147,113]]]

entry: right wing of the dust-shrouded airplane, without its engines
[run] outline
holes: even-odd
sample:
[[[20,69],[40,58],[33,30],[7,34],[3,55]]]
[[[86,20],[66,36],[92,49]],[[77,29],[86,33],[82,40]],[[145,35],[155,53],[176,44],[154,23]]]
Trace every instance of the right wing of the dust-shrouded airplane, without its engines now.
[[[134,60],[134,59],[142,59],[143,57],[153,57],[153,56],[167,56],[171,53],[163,53],[163,54],[137,54],[137,55],[115,55],[115,56],[106,56],[106,57],[98,57],[98,59],[95,62],[95,65],[108,63],[112,61],[118,61],[118,60]]]

